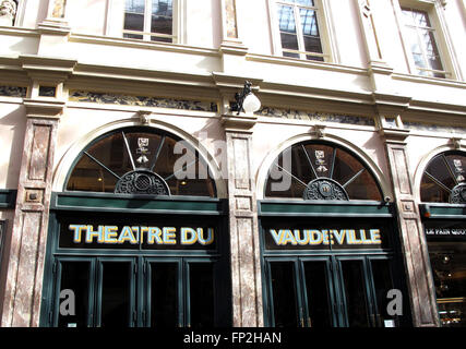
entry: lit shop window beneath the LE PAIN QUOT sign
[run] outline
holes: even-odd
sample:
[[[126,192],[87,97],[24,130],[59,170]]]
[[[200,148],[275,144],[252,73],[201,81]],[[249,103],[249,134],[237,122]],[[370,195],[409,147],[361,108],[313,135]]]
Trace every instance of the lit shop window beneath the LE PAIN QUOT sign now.
[[[440,322],[466,327],[466,242],[428,242]]]

